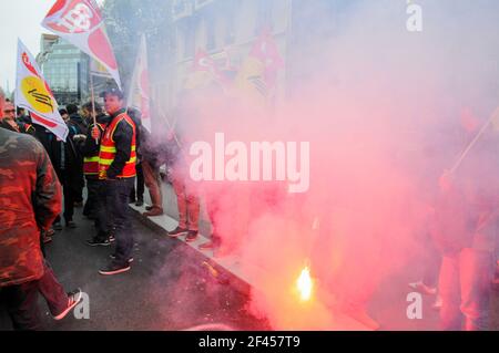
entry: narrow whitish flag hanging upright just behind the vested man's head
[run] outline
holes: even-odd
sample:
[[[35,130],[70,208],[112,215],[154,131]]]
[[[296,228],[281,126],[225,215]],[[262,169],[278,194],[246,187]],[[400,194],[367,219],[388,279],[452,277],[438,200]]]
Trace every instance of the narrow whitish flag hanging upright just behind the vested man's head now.
[[[142,125],[151,133],[151,96],[147,70],[147,44],[142,35],[141,46],[135,61],[128,105],[142,114]]]

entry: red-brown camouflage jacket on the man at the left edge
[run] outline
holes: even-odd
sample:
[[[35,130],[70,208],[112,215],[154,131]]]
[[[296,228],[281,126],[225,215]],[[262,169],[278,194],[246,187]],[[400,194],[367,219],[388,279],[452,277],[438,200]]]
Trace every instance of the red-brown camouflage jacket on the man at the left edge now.
[[[0,288],[43,274],[40,230],[61,211],[61,186],[43,146],[0,128]]]

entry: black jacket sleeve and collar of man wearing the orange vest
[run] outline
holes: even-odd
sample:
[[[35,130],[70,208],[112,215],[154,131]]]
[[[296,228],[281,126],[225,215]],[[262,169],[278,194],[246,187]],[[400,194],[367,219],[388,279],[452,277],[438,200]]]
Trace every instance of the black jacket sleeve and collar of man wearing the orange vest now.
[[[125,112],[126,110],[123,108],[111,115],[108,128],[112,124],[113,120],[115,120],[120,114],[123,114]],[[114,129],[112,138],[114,139],[116,146],[116,155],[114,157],[113,163],[108,169],[108,178],[110,179],[116,178],[116,176],[123,172],[126,162],[129,162],[132,156],[132,141],[133,141],[132,126],[130,126],[130,124],[126,123],[125,121],[120,122],[116,125],[116,128]]]

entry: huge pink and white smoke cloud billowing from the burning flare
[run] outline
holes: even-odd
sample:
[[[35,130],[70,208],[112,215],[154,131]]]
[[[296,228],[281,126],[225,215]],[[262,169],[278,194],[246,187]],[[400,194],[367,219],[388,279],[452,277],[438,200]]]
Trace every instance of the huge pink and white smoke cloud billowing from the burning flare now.
[[[329,13],[310,4],[303,17],[314,23],[313,35],[303,50],[292,49],[286,97],[262,108],[210,86],[184,95],[175,111],[186,158],[177,168],[204,199],[222,252],[240,257],[257,283],[248,309],[275,329],[345,329],[340,313],[368,310],[381,282],[417,272],[439,177],[498,105],[499,4],[417,4],[420,32],[407,29],[406,1],[338,8],[333,30]],[[216,133],[246,146],[309,143],[309,189],[190,180],[189,147],[206,142],[215,149]],[[488,128],[485,141],[493,134]],[[470,162],[462,175],[495,193],[498,183],[486,169]],[[310,302],[296,293],[305,266],[315,281]]]

